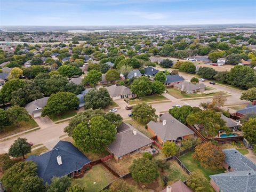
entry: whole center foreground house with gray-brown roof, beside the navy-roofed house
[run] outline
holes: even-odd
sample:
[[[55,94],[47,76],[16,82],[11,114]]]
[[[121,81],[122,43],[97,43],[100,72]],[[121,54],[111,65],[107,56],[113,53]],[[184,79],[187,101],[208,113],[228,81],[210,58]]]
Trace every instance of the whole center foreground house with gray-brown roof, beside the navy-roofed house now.
[[[132,125],[122,123],[117,128],[116,139],[108,146],[108,151],[114,154],[117,162],[121,159],[137,154],[142,150],[150,148],[153,140],[136,130]]]

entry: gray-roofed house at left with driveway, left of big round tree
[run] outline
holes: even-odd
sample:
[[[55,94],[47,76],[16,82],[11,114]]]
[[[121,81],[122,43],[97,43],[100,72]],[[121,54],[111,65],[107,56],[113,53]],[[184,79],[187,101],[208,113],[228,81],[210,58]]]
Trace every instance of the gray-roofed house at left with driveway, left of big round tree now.
[[[30,115],[34,116],[34,118],[39,117],[41,116],[42,109],[44,108],[44,106],[46,106],[48,99],[49,97],[44,97],[32,101],[25,106],[25,109],[28,111]]]

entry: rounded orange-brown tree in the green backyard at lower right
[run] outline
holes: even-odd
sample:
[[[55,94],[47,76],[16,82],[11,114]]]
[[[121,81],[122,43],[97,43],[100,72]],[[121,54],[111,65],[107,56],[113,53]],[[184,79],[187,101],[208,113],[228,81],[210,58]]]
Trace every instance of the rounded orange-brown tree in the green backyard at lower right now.
[[[205,169],[217,170],[222,168],[225,161],[225,154],[220,147],[212,145],[211,142],[204,142],[196,146],[195,153],[192,155]]]

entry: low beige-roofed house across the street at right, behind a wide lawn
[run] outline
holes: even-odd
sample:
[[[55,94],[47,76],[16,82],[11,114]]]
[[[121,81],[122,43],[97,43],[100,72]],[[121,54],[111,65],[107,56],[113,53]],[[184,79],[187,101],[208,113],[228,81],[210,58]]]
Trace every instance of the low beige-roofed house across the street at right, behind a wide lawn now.
[[[187,94],[205,91],[205,85],[203,83],[193,84],[191,82],[182,82],[173,85],[173,88]]]

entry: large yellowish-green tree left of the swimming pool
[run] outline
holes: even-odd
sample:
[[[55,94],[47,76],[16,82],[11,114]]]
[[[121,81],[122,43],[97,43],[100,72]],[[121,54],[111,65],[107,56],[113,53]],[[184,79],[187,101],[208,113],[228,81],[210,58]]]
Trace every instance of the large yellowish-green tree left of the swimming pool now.
[[[189,114],[187,123],[203,127],[202,134],[210,135],[211,137],[216,136],[220,130],[225,130],[227,134],[230,132],[226,122],[221,118],[221,114],[213,110],[203,110]]]

